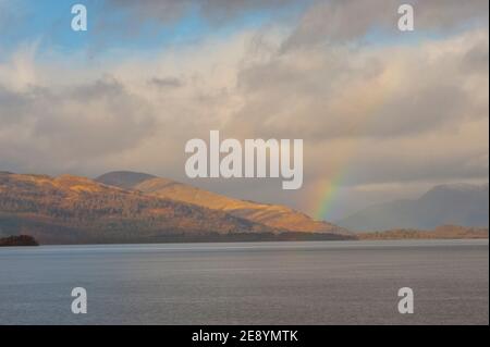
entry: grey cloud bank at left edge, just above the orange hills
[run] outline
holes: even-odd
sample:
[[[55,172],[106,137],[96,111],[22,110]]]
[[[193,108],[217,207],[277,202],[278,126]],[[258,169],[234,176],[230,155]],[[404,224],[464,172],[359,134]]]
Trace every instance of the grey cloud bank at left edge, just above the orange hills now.
[[[48,171],[83,165],[134,148],[156,123],[155,110],[110,77],[64,89],[0,86],[0,157],[20,168],[33,161]]]

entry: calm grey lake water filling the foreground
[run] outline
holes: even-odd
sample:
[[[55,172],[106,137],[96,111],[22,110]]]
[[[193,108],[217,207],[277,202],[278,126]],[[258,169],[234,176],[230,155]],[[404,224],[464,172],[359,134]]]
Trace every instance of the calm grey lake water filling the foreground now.
[[[71,312],[71,290],[88,313]],[[397,289],[415,313],[397,312]],[[0,248],[2,324],[488,324],[488,240]]]

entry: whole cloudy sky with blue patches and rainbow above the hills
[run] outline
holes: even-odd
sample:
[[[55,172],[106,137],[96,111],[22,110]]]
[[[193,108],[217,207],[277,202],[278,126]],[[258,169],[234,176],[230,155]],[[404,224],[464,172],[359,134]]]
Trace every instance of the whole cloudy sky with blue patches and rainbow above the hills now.
[[[333,221],[488,182],[489,2],[413,0],[414,32],[402,3],[0,0],[0,170],[133,170]],[[302,138],[302,189],[187,178],[210,129]]]

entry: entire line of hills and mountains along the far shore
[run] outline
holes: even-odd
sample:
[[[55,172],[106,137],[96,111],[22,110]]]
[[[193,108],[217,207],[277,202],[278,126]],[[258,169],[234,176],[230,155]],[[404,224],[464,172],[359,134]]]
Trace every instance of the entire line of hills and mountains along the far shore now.
[[[0,237],[30,235],[40,244],[372,238],[350,231],[389,231],[375,238],[481,237],[488,235],[488,184],[440,185],[331,224],[145,173],[90,179],[0,172]]]

